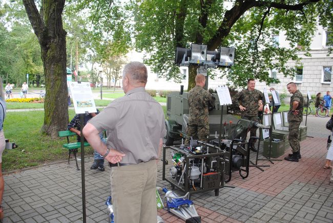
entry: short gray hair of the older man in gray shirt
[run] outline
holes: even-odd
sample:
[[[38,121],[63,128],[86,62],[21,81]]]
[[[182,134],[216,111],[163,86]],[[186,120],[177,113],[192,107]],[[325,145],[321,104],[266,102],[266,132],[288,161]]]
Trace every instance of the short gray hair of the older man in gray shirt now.
[[[130,81],[135,83],[147,83],[148,72],[145,65],[141,62],[130,62],[125,65],[122,71],[122,78],[128,77]]]

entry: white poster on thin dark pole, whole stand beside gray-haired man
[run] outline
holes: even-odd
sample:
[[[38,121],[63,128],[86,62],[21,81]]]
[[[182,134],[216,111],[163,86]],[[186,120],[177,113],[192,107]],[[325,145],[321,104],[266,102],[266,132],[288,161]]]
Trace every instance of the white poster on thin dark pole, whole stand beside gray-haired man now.
[[[68,81],[69,90],[73,99],[75,114],[80,116],[81,126],[81,184],[82,184],[82,215],[83,222],[86,223],[86,187],[85,187],[85,140],[82,134],[84,128],[84,116],[89,113],[97,113],[95,101],[89,82]]]

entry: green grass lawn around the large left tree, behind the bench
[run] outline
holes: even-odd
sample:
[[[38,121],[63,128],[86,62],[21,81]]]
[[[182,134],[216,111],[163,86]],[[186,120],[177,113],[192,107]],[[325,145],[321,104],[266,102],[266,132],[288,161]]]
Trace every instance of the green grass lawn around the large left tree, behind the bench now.
[[[69,110],[69,116],[74,116],[74,110]],[[64,139],[52,139],[40,133],[43,125],[44,111],[25,111],[7,113],[4,122],[6,139],[15,142],[18,147],[5,149],[2,157],[3,171],[22,169],[44,163],[68,158],[68,150],[62,145]],[[71,142],[75,142],[73,137]],[[91,147],[85,148],[85,153],[93,154]],[[74,164],[73,161],[71,161]]]

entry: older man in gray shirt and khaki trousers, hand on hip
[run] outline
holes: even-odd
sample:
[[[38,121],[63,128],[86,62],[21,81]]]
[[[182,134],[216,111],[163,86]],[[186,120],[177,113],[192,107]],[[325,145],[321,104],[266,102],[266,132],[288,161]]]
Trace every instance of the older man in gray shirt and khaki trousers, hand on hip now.
[[[155,188],[165,134],[164,113],[144,90],[148,73],[143,63],[128,63],[122,76],[125,96],[91,119],[83,133],[90,145],[111,162],[115,222],[156,223]],[[103,129],[108,134],[106,146],[98,136]],[[111,154],[114,152],[120,153]],[[121,162],[112,164],[116,160]]]

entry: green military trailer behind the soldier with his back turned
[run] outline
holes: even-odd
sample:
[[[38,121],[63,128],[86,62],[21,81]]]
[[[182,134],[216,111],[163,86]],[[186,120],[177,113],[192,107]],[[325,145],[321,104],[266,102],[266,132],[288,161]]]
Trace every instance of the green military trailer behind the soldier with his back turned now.
[[[217,94],[215,97],[215,107],[209,111],[210,137],[227,136],[230,129],[237,124],[238,119],[233,115],[226,115],[226,106],[223,106],[222,128],[220,127],[221,109]],[[189,120],[189,102],[187,92],[171,92],[166,100],[166,135],[163,143],[166,146],[173,145],[174,141],[186,138]]]

